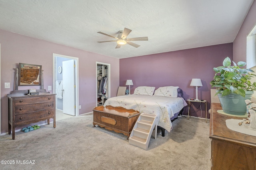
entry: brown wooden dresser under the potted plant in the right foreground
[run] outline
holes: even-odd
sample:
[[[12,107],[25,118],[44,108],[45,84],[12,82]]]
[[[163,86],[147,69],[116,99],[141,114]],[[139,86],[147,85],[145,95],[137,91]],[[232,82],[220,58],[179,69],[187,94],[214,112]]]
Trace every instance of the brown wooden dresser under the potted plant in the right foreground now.
[[[220,114],[221,109],[220,104],[211,104],[211,169],[256,170],[256,137],[228,129],[226,119],[243,118]]]

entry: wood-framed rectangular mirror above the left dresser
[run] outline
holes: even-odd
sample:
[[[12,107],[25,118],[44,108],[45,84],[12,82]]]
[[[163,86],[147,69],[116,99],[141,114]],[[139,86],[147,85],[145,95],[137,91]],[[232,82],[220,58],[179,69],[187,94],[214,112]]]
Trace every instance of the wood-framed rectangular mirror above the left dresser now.
[[[18,86],[41,86],[41,65],[19,63],[18,72]]]

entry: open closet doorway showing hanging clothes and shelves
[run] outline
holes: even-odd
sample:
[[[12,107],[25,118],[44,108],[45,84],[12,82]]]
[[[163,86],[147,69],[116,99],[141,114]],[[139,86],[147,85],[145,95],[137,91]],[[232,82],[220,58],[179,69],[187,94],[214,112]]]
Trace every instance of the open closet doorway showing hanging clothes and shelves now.
[[[110,98],[110,64],[96,62],[96,106]]]

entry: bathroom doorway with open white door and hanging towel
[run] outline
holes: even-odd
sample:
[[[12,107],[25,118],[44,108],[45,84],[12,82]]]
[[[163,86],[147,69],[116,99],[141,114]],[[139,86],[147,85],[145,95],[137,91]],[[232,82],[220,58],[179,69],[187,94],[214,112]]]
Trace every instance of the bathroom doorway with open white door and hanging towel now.
[[[78,58],[53,54],[56,120],[78,116]]]

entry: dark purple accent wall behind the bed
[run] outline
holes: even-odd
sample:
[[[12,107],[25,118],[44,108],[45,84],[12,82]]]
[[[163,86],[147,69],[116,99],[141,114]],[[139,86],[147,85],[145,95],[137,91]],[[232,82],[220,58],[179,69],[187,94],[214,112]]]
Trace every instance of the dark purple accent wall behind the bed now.
[[[227,43],[120,59],[120,86],[125,86],[127,79],[132,79],[134,84],[131,86],[131,93],[137,86],[179,86],[187,100],[196,97],[195,88],[190,86],[192,78],[201,78],[203,86],[198,87],[198,98],[207,100],[207,107],[210,109],[213,67],[222,65],[226,57],[232,59],[232,51],[232,43]],[[204,106],[202,108],[204,109]],[[183,114],[187,112],[186,108]],[[192,116],[200,117],[201,111],[194,111]],[[205,112],[202,117],[205,117]]]

